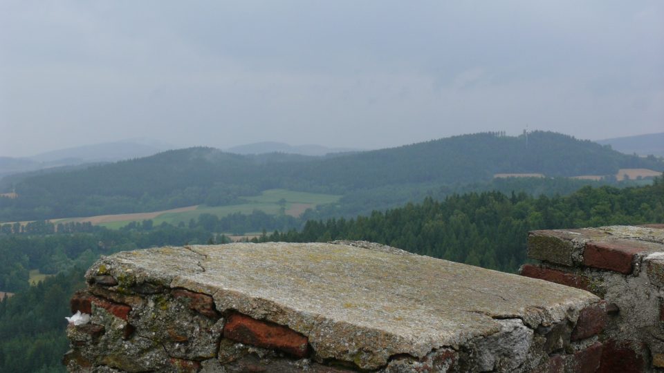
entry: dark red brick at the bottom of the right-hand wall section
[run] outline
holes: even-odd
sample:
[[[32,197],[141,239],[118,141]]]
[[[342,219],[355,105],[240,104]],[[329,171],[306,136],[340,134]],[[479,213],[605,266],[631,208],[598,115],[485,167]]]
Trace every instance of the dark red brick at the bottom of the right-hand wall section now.
[[[644,346],[640,343],[609,340],[602,350],[598,373],[640,373],[645,370]]]

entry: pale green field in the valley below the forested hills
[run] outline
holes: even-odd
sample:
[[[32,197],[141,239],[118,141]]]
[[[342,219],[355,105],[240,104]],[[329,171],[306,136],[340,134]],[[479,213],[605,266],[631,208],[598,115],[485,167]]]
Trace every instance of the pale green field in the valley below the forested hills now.
[[[230,206],[216,206],[210,207],[201,204],[195,210],[182,211],[176,213],[161,213],[152,219],[155,225],[167,222],[168,224],[178,224],[179,222],[189,222],[191,219],[196,220],[202,213],[211,213],[212,215],[223,218],[232,213],[250,214],[254,210],[263,211],[270,215],[277,215],[279,213],[288,213],[288,211],[298,211],[308,207],[316,207],[319,204],[335,203],[340,200],[341,195],[332,194],[319,194],[319,193],[306,193],[299,191],[289,191],[287,189],[269,189],[263,191],[260,195],[251,195],[242,197],[241,200],[246,201],[242,204],[232,204]],[[285,202],[284,202],[285,201]],[[294,210],[291,210],[294,209]],[[297,213],[291,213],[298,215]],[[132,220],[122,220],[117,222],[106,222],[99,224],[102,227],[109,229],[119,229],[129,224]]]

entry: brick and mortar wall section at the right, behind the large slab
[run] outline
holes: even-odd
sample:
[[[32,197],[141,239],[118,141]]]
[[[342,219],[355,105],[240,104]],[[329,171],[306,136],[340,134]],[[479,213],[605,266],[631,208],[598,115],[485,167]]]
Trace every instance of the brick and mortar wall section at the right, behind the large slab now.
[[[533,231],[528,257],[523,276],[605,301],[599,372],[664,372],[664,224]]]

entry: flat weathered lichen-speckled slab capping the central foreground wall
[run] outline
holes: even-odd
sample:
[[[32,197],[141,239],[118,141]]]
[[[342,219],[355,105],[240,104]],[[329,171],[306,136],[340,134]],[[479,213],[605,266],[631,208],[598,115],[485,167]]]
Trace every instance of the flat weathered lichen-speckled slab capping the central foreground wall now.
[[[382,245],[165,247],[103,258],[86,277],[103,275],[118,280],[118,285],[105,289],[122,294],[131,295],[145,283],[208,294],[219,314],[239,312],[283,325],[308,338],[320,361],[345,361],[369,370],[386,367],[391,356],[422,361],[433,351],[497,337],[505,328],[501,319],[519,319],[522,327],[511,329],[511,333],[521,331],[531,338],[532,329],[537,327],[567,320],[575,323],[580,309],[598,302],[596,296],[579,289],[392,252]],[[145,298],[149,303],[150,296]],[[162,325],[164,330],[149,334],[149,328],[138,321],[151,312],[158,315],[156,308],[170,307],[168,304],[175,301],[159,306],[155,299],[151,300],[153,305],[141,306],[145,311],[133,309],[129,322],[138,324],[132,341],[155,338],[185,343],[188,334],[178,330],[169,333],[163,327],[167,323],[155,321],[154,326]],[[190,308],[193,303],[181,304],[187,312],[201,314],[200,309],[194,308],[194,312]],[[509,334],[504,334],[506,340]],[[500,356],[520,358],[524,346],[515,339],[506,350],[493,354],[498,356],[494,365],[499,365]],[[187,354],[174,356],[173,351],[167,350],[171,357],[191,358]]]

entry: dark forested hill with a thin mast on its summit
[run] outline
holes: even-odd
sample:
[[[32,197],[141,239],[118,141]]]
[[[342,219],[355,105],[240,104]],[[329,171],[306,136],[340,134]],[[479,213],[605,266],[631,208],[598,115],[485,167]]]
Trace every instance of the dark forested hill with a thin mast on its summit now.
[[[553,132],[527,137],[477,133],[398,148],[367,151],[304,164],[288,178],[316,180],[343,188],[367,188],[413,182],[468,183],[495,173],[543,173],[547,176],[615,175],[620,168],[664,171],[664,162],[625,155],[588,140]]]

